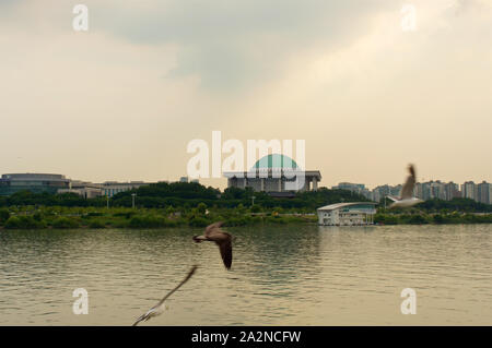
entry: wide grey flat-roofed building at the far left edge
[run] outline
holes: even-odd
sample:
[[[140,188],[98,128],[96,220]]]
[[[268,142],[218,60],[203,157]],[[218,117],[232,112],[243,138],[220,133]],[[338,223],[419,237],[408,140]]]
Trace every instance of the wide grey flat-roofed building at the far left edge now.
[[[69,183],[70,180],[62,175],[7,173],[0,179],[0,195],[10,195],[19,191],[57,193],[60,189],[68,189]]]

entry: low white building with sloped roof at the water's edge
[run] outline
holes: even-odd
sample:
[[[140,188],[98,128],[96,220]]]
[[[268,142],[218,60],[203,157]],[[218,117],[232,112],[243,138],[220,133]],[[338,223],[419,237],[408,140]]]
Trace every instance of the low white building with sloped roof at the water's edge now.
[[[363,226],[373,225],[376,214],[374,202],[336,203],[317,209],[318,225]]]

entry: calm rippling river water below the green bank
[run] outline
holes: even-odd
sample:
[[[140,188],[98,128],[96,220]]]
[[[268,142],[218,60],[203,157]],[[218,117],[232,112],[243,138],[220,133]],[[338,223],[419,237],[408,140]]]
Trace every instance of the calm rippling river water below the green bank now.
[[[142,325],[492,324],[492,225],[230,228],[231,272],[199,231],[0,231],[0,325],[129,325],[194,263]]]

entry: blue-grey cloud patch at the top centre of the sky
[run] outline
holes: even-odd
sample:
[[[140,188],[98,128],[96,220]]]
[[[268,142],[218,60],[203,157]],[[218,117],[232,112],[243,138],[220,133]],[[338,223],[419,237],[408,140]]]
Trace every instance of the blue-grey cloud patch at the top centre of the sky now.
[[[92,19],[95,28],[139,45],[178,45],[178,65],[167,77],[197,74],[203,88],[224,93],[279,74],[289,57],[305,49],[350,44],[367,29],[371,14],[393,5],[249,0],[167,1],[134,9],[94,2]]]

